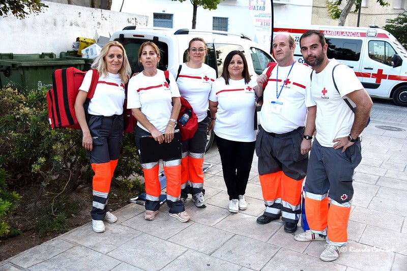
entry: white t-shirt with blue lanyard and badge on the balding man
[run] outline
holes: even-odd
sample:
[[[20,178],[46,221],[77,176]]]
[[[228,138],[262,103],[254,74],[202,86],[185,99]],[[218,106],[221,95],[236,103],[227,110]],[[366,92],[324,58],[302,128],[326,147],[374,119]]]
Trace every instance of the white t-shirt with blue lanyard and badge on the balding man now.
[[[260,124],[264,130],[283,134],[305,125],[305,89],[309,87],[310,73],[311,68],[298,62],[293,66],[274,67],[263,93],[260,111]]]

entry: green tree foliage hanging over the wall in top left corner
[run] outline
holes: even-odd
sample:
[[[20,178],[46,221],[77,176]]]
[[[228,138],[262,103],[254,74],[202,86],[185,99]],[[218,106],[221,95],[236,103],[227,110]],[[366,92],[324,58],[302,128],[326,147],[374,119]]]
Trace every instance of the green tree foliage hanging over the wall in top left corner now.
[[[0,16],[8,16],[9,13],[18,19],[24,19],[27,15],[38,14],[48,8],[41,0],[3,0],[0,2]]]

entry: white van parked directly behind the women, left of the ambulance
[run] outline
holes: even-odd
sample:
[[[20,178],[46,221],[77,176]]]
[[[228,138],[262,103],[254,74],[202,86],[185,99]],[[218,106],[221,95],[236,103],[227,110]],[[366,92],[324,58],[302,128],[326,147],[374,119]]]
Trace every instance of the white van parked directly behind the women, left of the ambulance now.
[[[241,34],[232,34],[223,31],[197,31],[196,29],[171,28],[138,28],[127,26],[122,31],[113,33],[110,40],[119,41],[126,49],[132,72],[141,72],[142,66],[138,62],[138,49],[143,42],[152,41],[161,50],[161,59],[158,69],[168,68],[186,62],[186,51],[189,41],[193,38],[202,38],[207,43],[209,52],[205,63],[216,70],[217,77],[222,74],[223,61],[226,55],[233,50],[243,51],[250,75],[256,79],[263,73],[267,64],[274,62],[268,51],[261,45],[251,41]],[[208,133],[207,150],[212,145],[213,133]]]

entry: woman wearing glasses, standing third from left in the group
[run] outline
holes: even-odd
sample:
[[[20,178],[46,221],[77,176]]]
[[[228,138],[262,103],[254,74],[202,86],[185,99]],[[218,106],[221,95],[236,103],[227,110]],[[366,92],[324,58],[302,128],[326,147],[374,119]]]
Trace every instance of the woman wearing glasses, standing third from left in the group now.
[[[207,50],[203,39],[193,38],[187,49],[187,62],[169,70],[177,78],[181,96],[191,104],[198,117],[198,129],[195,135],[182,141],[181,200],[185,202],[188,194],[191,194],[192,201],[199,208],[207,206],[203,198],[205,189],[203,189],[202,165],[209,123],[208,97],[212,83],[216,79],[216,71],[203,63]]]

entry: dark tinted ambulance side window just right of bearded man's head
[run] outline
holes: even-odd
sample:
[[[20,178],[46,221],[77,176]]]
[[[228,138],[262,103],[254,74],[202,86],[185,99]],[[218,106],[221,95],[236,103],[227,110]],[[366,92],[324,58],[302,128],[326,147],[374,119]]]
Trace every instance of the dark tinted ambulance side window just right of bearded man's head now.
[[[327,38],[326,41],[328,44],[328,58],[359,61],[362,40]]]

